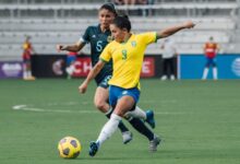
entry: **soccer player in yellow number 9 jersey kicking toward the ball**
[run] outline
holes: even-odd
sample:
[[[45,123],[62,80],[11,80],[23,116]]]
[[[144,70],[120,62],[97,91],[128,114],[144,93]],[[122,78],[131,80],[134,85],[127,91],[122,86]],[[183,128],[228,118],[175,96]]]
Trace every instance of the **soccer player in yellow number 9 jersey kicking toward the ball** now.
[[[98,74],[106,62],[112,59],[113,73],[109,81],[109,103],[115,110],[110,119],[103,127],[98,139],[95,142],[91,142],[91,156],[94,156],[100,145],[112,136],[122,117],[136,117],[148,122],[154,122],[151,115],[147,115],[147,113],[141,109],[135,109],[140,97],[140,73],[144,51],[147,45],[155,43],[157,39],[192,27],[194,27],[193,22],[188,21],[160,32],[134,35],[131,33],[131,23],[128,16],[117,16],[113,20],[110,24],[110,31],[115,40],[106,46],[100,55],[100,60],[95,65],[86,80],[79,87],[81,93],[85,93],[91,80]]]

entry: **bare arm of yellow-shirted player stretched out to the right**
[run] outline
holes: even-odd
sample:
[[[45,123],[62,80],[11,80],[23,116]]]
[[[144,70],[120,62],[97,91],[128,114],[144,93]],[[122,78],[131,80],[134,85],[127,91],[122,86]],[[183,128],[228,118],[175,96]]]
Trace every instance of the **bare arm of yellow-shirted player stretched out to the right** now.
[[[163,38],[163,37],[168,37],[181,30],[185,30],[185,28],[193,28],[195,26],[195,24],[192,21],[188,21],[184,23],[181,23],[179,25],[173,25],[170,27],[167,27],[160,32],[157,32],[157,39]]]

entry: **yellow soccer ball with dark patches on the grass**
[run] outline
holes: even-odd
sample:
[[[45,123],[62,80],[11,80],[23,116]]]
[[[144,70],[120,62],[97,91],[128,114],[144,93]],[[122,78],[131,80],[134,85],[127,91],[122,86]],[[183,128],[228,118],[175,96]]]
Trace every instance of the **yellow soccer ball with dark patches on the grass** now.
[[[60,157],[75,159],[81,152],[81,143],[76,138],[64,137],[58,143]]]

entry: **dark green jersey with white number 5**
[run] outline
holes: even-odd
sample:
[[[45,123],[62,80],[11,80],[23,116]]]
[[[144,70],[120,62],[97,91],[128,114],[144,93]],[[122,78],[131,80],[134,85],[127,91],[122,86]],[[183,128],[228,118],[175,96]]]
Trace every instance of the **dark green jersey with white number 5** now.
[[[101,32],[100,25],[88,26],[81,38],[81,42],[84,44],[91,44],[91,60],[92,66],[94,67],[98,60],[101,51],[111,40],[111,32],[108,30]],[[106,77],[112,74],[112,61],[105,65],[98,75],[95,78],[97,84],[99,84]]]

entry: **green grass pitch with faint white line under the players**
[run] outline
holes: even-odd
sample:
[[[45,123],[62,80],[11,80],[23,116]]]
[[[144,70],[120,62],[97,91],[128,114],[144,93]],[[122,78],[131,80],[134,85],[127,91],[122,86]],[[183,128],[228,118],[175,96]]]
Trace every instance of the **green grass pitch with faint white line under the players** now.
[[[158,152],[131,126],[133,141],[122,144],[119,131],[95,157],[88,156],[106,122],[93,105],[95,83],[85,95],[82,80],[0,81],[1,164],[239,164],[240,81],[142,80],[139,106],[155,112]],[[13,109],[14,108],[14,109]],[[58,141],[76,137],[75,160],[58,156]]]

